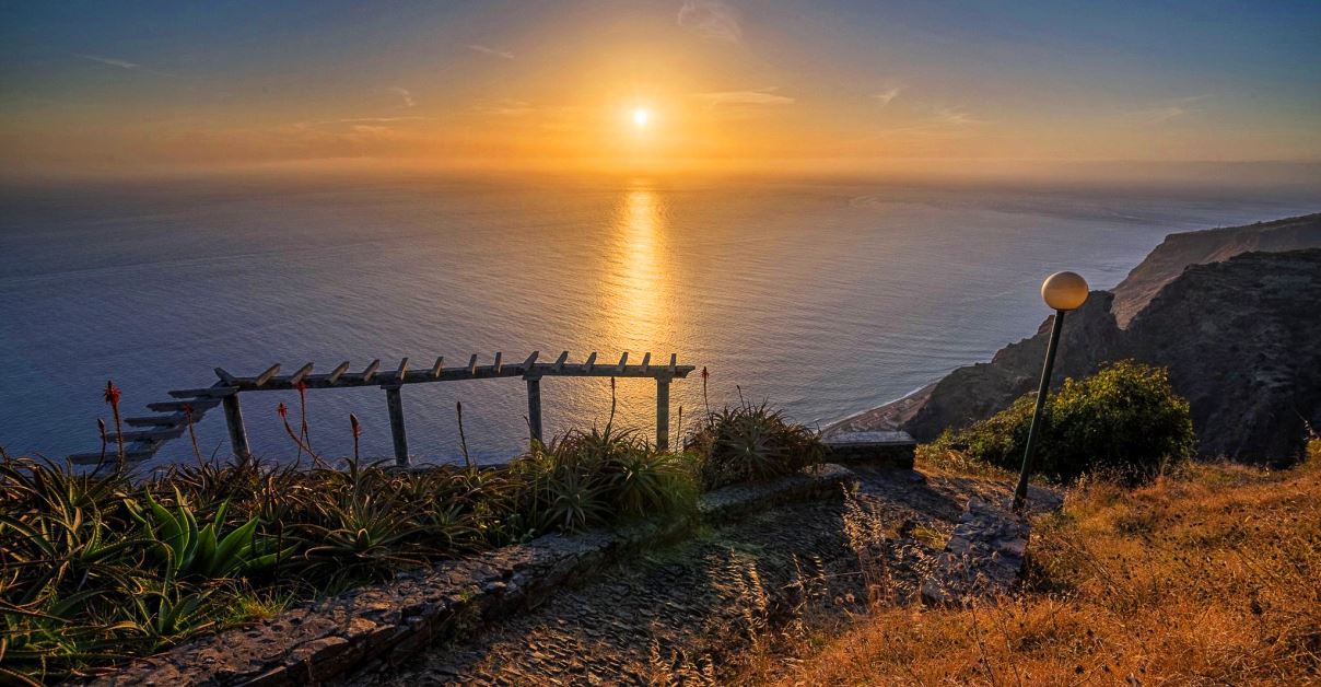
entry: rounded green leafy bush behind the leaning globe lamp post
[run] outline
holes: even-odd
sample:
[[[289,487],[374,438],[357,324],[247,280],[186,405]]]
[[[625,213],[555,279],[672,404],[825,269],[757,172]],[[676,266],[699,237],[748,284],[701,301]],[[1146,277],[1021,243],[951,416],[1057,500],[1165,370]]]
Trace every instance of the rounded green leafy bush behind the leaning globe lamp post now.
[[[1017,470],[1034,402],[1028,394],[966,429],[946,431],[933,449]],[[1192,457],[1196,444],[1188,402],[1174,395],[1168,373],[1132,361],[1066,379],[1046,399],[1042,423],[1032,469],[1055,481],[1103,470],[1139,482]]]

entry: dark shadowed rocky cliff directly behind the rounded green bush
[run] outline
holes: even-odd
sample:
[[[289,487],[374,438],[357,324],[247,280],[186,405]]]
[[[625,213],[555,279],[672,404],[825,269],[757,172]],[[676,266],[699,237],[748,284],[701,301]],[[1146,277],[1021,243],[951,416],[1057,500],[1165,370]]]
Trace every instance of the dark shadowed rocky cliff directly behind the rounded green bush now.
[[[1301,451],[1304,421],[1321,428],[1321,250],[1251,252],[1181,272],[1127,329],[1114,314],[1119,296],[1094,292],[1065,320],[1053,384],[1123,358],[1169,367],[1192,404],[1203,456],[1289,461]],[[904,428],[931,440],[1033,391],[1049,326],[1048,318],[989,363],[947,375]]]

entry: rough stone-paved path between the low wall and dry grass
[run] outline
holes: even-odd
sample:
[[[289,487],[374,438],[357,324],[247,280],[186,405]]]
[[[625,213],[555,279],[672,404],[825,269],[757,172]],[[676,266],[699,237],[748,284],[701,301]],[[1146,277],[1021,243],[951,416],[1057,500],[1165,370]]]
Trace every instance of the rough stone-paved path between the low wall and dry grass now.
[[[349,684],[713,683],[823,617],[910,598],[970,497],[1009,485],[857,469],[855,494],[777,506],[700,531],[536,609]],[[1033,491],[1054,507],[1058,495]]]

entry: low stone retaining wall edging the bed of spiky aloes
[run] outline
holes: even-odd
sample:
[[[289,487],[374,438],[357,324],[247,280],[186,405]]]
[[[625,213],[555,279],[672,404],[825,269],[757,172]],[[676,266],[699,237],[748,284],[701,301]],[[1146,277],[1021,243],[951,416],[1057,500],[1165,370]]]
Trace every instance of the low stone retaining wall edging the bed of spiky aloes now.
[[[839,465],[704,494],[703,522],[777,502],[838,494],[852,481]],[[691,523],[643,522],[610,531],[547,535],[478,556],[400,573],[276,618],[199,638],[92,680],[99,686],[309,684],[373,663],[396,662],[432,642],[536,605],[556,588],[639,550],[674,540]]]

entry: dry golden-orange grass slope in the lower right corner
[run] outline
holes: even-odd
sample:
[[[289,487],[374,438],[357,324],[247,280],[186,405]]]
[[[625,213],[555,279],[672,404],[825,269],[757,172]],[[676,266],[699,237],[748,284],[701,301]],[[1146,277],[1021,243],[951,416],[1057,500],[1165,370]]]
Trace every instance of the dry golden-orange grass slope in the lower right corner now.
[[[967,609],[880,605],[785,684],[1321,683],[1321,441],[1267,473],[1193,465],[1073,489],[1034,526],[1024,591]],[[778,672],[778,675],[777,675]]]

